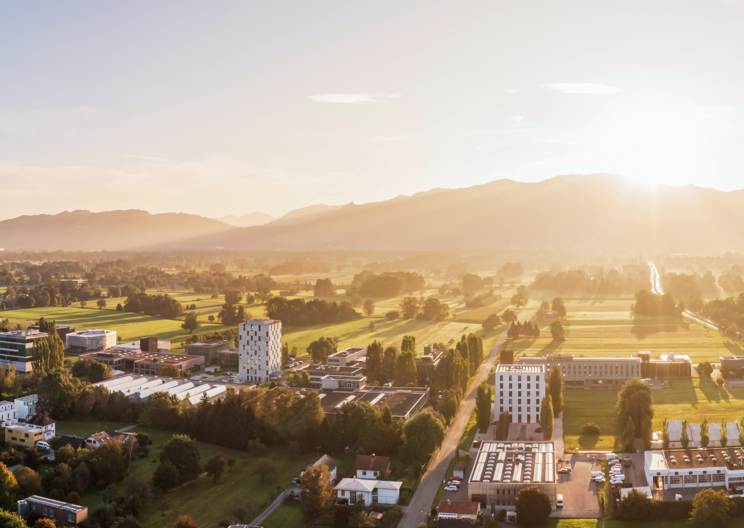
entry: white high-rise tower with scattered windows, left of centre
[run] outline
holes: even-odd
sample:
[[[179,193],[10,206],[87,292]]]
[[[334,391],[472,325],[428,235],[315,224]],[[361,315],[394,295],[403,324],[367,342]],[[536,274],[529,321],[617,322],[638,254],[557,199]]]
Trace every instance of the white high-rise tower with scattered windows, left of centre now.
[[[238,379],[268,383],[282,371],[282,322],[251,319],[240,325],[240,371]]]

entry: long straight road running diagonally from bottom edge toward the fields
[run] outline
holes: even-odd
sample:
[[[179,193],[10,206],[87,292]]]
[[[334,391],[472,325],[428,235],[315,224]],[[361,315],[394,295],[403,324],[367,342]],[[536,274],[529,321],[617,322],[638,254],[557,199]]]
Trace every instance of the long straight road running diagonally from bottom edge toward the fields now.
[[[475,373],[473,382],[470,384],[470,389],[460,404],[460,410],[455,415],[454,420],[452,420],[452,425],[450,425],[444,437],[442,447],[436,454],[435,459],[429,464],[426,473],[424,473],[418,488],[416,488],[416,492],[413,494],[411,503],[404,508],[403,518],[400,520],[398,528],[416,528],[420,523],[426,521],[426,515],[431,511],[431,503],[439,491],[439,485],[444,480],[447,466],[449,466],[450,461],[454,457],[455,449],[457,449],[462,435],[465,433],[470,416],[475,410],[475,396],[478,385],[486,379],[488,373],[491,371],[491,367],[493,367],[505,339],[506,330],[501,333],[491,350],[491,354],[480,366],[478,372]]]

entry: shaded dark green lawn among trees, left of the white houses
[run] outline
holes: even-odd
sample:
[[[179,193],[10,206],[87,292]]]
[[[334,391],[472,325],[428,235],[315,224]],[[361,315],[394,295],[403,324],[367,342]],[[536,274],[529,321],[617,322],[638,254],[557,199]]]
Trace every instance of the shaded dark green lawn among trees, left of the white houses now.
[[[148,433],[153,444],[147,458],[132,463],[130,474],[151,482],[152,474],[157,467],[160,447],[173,433],[139,426],[134,431]],[[236,464],[233,471],[226,472],[216,484],[204,473],[197,480],[171,490],[161,498],[153,499],[140,514],[140,520],[145,528],[172,526],[180,514],[193,517],[199,527],[212,527],[220,520],[227,519],[234,508],[249,502],[255,507],[252,515],[256,515],[279,494],[280,490],[286,488],[290,481],[299,475],[300,469],[313,458],[312,455],[289,455],[286,450],[279,448],[267,448],[261,453],[248,453],[204,442],[199,442],[199,449],[202,463],[206,463],[215,453],[222,453],[225,458],[234,458]],[[276,471],[267,477],[265,482],[261,482],[261,477],[254,473],[256,461],[262,457],[272,458],[276,465]],[[117,484],[117,487],[121,486],[122,483]],[[102,500],[100,492],[87,493],[83,496],[82,503],[93,510],[102,503]],[[249,520],[244,519],[243,522]]]

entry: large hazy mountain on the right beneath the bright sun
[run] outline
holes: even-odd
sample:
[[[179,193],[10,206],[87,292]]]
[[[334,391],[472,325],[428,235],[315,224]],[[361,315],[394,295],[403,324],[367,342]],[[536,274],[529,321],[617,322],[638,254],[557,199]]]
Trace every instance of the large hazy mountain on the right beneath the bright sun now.
[[[320,211],[322,216],[300,224],[278,219],[190,244],[256,250],[744,251],[744,191],[652,188],[610,175],[497,180]]]

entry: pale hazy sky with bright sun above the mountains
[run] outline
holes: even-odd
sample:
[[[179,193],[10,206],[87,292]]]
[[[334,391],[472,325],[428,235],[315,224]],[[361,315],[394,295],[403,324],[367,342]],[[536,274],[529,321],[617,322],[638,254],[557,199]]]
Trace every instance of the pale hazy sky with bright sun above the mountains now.
[[[744,0],[5,2],[0,218],[744,188],[742,27]]]

